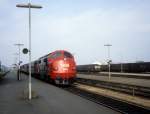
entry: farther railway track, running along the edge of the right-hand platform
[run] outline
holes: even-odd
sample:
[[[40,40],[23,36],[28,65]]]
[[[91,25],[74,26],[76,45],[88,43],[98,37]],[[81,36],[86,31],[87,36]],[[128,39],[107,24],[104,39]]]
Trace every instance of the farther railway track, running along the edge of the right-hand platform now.
[[[136,85],[129,85],[129,84],[122,84],[116,82],[106,82],[101,80],[91,80],[85,78],[77,78],[76,81],[78,83],[87,84],[95,87],[101,87],[110,89],[113,91],[119,91],[123,93],[127,93],[133,96],[142,96],[145,98],[150,98],[150,88],[149,87],[142,87]]]

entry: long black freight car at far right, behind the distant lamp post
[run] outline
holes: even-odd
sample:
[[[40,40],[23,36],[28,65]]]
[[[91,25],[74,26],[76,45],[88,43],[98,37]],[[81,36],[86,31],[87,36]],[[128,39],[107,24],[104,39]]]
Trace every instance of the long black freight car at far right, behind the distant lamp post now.
[[[101,65],[101,71],[108,71],[108,65]],[[150,62],[111,64],[110,71],[129,73],[150,72]]]

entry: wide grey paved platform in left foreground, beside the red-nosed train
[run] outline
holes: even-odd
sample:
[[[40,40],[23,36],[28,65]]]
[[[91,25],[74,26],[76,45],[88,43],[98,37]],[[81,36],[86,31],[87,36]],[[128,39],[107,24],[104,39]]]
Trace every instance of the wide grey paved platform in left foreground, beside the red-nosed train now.
[[[28,100],[28,76],[9,72],[0,81],[0,114],[118,114],[107,107],[74,95],[49,83],[32,78],[32,89],[38,97]]]

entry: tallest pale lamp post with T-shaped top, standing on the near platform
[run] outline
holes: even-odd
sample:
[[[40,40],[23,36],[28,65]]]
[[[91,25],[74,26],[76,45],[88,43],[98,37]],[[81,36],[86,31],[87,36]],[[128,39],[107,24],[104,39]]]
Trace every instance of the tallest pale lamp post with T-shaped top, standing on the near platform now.
[[[16,7],[19,8],[29,8],[29,100],[31,100],[31,8],[40,9],[42,6],[28,4],[17,4]]]

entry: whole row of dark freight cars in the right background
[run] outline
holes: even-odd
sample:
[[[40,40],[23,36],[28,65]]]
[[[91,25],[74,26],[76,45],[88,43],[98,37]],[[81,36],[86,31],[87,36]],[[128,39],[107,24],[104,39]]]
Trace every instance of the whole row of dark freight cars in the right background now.
[[[111,72],[150,73],[150,62],[111,63]],[[108,72],[108,65],[77,65],[77,72]]]

